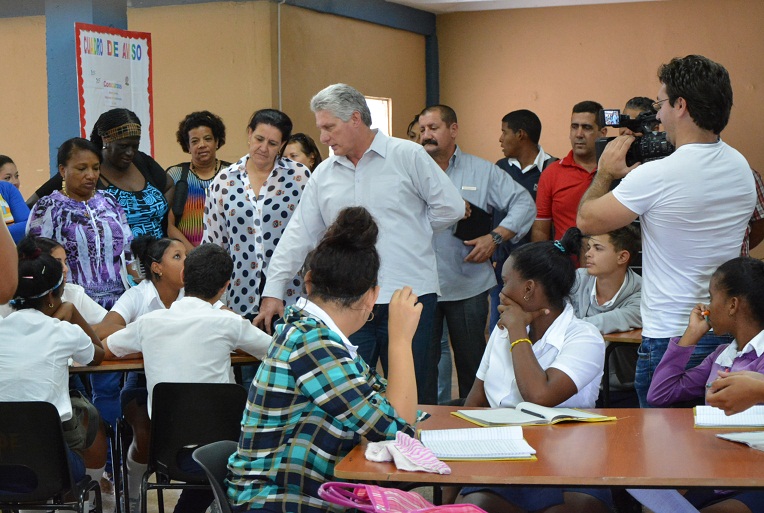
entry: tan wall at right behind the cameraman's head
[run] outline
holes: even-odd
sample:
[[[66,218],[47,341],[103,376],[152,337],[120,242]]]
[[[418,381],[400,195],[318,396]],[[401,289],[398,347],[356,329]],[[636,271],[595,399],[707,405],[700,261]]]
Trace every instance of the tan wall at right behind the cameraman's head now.
[[[541,144],[570,151],[571,107],[596,100],[622,109],[654,98],[658,66],[699,53],[729,71],[735,106],[723,139],[764,169],[757,126],[764,120],[764,38],[759,0],[671,0],[514,9],[438,16],[441,100],[453,106],[467,150],[501,157],[501,117],[528,108],[544,127]]]

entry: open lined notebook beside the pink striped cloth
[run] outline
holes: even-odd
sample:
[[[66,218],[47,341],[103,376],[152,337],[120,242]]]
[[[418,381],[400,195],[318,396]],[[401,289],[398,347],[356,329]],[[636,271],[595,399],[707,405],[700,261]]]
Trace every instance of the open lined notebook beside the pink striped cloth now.
[[[533,460],[536,450],[523,438],[523,428],[421,430],[419,440],[447,461]]]

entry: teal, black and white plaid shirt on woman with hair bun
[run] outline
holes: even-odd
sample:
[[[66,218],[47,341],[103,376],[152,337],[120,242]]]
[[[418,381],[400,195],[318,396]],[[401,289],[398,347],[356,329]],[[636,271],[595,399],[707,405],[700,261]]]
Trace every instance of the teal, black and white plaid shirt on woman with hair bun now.
[[[385,399],[386,382],[352,357],[321,320],[287,307],[249,389],[239,447],[228,462],[234,511],[344,511],[318,497],[334,465],[360,441],[414,428]]]

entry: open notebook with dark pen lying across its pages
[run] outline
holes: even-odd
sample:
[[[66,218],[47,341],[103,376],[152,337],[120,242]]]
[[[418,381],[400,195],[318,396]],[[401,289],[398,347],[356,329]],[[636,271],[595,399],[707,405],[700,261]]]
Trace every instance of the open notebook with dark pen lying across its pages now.
[[[558,422],[604,422],[616,420],[575,408],[548,408],[523,402],[514,408],[491,408],[490,410],[457,410],[451,412],[478,426],[526,426],[534,424],[557,424]]]

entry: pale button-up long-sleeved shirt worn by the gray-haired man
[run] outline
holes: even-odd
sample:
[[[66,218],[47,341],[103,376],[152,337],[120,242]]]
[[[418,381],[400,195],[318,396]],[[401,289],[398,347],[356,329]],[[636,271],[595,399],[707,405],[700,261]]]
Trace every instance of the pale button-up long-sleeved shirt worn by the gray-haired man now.
[[[284,298],[289,281],[340,210],[363,206],[379,226],[378,304],[411,286],[440,293],[432,234],[464,217],[459,191],[422,145],[377,131],[358,165],[330,157],[316,168],[268,264],[263,296]]]

